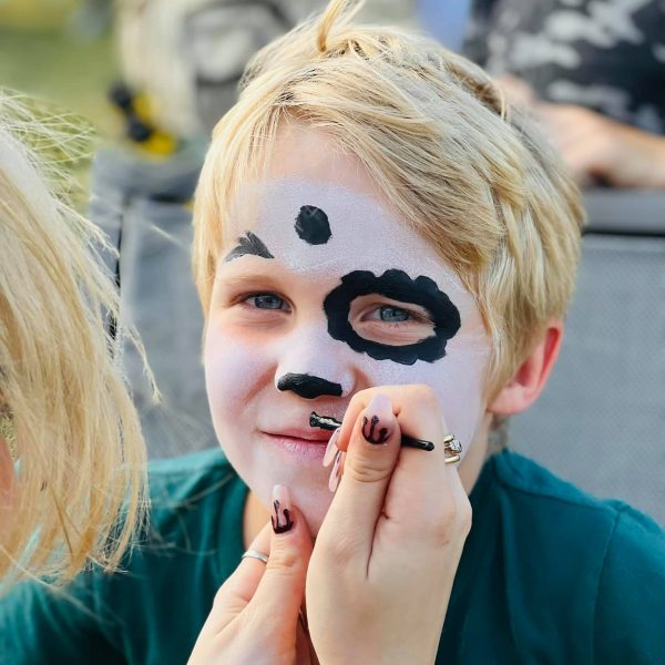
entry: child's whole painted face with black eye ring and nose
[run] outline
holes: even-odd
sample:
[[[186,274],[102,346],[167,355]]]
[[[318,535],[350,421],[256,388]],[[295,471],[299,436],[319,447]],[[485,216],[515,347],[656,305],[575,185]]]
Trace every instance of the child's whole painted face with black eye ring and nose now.
[[[468,449],[484,412],[489,340],[472,296],[319,132],[282,132],[266,180],[227,222],[205,340],[208,399],[229,461],[266,505],[287,484],[316,532],[321,467],[351,396],[427,383]]]

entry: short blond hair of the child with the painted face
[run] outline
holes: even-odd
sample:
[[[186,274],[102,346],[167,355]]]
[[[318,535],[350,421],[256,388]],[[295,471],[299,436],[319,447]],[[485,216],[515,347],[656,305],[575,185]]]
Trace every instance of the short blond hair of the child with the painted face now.
[[[295,117],[356,155],[393,211],[474,295],[492,340],[487,391],[564,315],[584,214],[560,160],[480,68],[405,30],[356,25],[334,0],[249,63],[213,134],[194,211],[194,277],[207,311],[238,187]]]

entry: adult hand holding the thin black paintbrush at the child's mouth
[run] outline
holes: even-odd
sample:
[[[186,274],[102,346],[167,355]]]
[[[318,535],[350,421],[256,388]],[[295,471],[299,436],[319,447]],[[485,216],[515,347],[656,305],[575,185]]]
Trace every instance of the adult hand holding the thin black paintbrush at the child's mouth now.
[[[402,431],[434,450],[401,448]],[[427,386],[352,398],[337,438],[344,475],[307,573],[321,663],[433,663],[471,524],[458,471],[444,463],[447,433]]]

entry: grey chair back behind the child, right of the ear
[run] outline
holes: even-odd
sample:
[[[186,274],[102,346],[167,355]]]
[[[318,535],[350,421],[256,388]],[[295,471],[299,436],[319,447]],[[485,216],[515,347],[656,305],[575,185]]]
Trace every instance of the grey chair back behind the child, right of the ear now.
[[[591,191],[563,348],[510,446],[665,524],[665,193]]]

